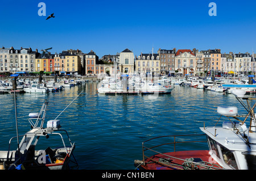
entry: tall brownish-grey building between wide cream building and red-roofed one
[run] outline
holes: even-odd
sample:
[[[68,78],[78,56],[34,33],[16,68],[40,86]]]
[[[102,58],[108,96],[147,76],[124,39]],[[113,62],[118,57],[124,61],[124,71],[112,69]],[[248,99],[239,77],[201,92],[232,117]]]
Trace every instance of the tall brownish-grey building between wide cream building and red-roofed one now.
[[[174,75],[175,73],[175,53],[174,49],[160,49],[158,54],[160,57],[160,73],[162,75]]]

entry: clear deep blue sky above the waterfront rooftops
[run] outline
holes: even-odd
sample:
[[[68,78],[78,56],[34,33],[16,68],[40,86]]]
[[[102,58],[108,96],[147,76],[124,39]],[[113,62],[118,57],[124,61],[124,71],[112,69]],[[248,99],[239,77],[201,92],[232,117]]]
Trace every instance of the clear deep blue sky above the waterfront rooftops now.
[[[46,4],[39,16],[38,4]],[[210,2],[217,16],[209,16]],[[46,20],[52,12],[55,18]],[[94,50],[99,57],[129,48],[135,55],[162,49],[256,52],[256,1],[3,1],[0,47],[52,47],[51,53]]]

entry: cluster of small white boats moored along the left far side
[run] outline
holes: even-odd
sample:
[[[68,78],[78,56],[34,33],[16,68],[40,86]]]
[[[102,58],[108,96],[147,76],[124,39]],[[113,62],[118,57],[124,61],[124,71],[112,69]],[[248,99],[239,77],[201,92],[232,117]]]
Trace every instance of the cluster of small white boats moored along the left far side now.
[[[84,79],[50,79],[49,81],[39,81],[39,79],[16,79],[16,85],[14,88],[13,79],[0,80],[0,92],[11,92],[12,90],[18,90],[28,93],[47,93],[61,91],[65,88],[70,88],[81,83],[85,83]]]

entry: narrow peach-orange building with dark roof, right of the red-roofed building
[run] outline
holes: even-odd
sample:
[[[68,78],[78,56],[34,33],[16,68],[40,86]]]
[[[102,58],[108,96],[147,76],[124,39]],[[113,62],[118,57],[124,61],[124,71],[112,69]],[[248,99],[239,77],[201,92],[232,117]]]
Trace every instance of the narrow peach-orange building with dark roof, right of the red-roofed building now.
[[[221,50],[220,49],[210,49],[210,70],[213,71],[214,75],[221,74]]]

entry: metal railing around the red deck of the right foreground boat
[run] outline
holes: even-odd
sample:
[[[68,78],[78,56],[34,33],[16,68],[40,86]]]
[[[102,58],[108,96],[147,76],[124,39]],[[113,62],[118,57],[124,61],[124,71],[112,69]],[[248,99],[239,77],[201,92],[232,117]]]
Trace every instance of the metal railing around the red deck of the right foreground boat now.
[[[189,163],[190,165],[191,165],[191,167],[193,168],[193,167],[196,167],[196,166],[200,166],[200,167],[207,167],[208,169],[210,169],[211,167],[213,168],[213,169],[222,169],[222,168],[219,168],[219,167],[216,167],[216,166],[214,166],[214,165],[206,165],[206,164],[204,164],[204,163],[200,163],[200,162],[193,162],[193,161],[189,161],[188,159],[181,159],[181,158],[177,158],[177,157],[172,157],[171,155],[167,155],[167,154],[164,154],[164,152],[163,151],[157,151],[156,150],[156,148],[159,148],[159,147],[163,147],[163,146],[166,146],[166,145],[171,145],[171,146],[173,146],[173,149],[174,149],[174,152],[176,151],[176,149],[177,149],[177,145],[182,145],[182,144],[189,144],[189,143],[204,143],[204,142],[207,142],[207,141],[199,141],[199,140],[197,140],[197,141],[193,141],[192,140],[192,138],[194,139],[194,138],[196,138],[196,137],[202,137],[202,136],[205,136],[205,134],[181,134],[181,135],[170,135],[170,136],[160,136],[160,137],[155,137],[155,138],[151,138],[151,139],[149,139],[149,140],[147,140],[147,141],[144,141],[144,142],[142,142],[142,155],[143,155],[143,161],[142,161],[142,164],[143,165],[146,165],[146,162],[145,162],[145,160],[146,159],[150,159],[150,161],[152,161],[152,162],[155,162],[155,163],[159,163],[159,164],[162,164],[162,165],[165,165],[165,166],[170,166],[170,165],[168,165],[168,164],[170,164],[170,163],[168,163],[168,162],[160,162],[160,161],[157,161],[156,159],[154,159],[154,158],[152,158],[152,157],[148,157],[147,155],[146,155],[146,151],[147,151],[147,154],[148,154],[148,151],[150,151],[150,153],[154,153],[154,154],[160,154],[160,155],[162,155],[164,158],[166,158],[166,160],[167,159],[171,159],[171,158],[174,158],[174,159],[179,159],[179,160],[181,160],[181,161],[184,161],[184,162],[187,162],[187,163]],[[160,138],[172,138],[173,139],[173,141],[172,142],[165,142],[165,143],[163,143],[163,144],[159,144],[159,145],[154,145],[154,146],[151,146],[151,147],[147,147],[147,146],[145,146],[145,143],[146,142],[149,142],[149,141],[154,141],[154,142],[159,142],[159,139]],[[184,138],[182,138],[182,140],[181,141],[178,141],[178,139],[179,138],[177,138],[177,137],[179,137],[179,138],[181,138],[181,137],[187,137],[187,139],[186,140],[184,140]],[[170,147],[168,147],[168,152],[170,152],[170,149],[169,149]],[[166,151],[167,152],[167,151]],[[152,155],[152,154],[150,154],[150,155]]]

